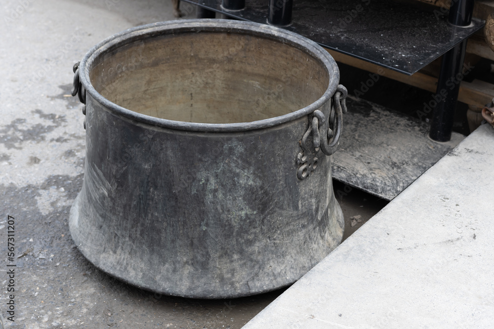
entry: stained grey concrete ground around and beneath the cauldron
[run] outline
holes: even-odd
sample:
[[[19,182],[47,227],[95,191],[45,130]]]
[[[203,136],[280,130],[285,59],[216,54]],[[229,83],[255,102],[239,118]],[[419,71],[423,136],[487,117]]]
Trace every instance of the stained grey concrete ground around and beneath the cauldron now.
[[[234,300],[167,297],[95,269],[72,242],[67,218],[81,189],[85,139],[74,63],[124,29],[174,19],[170,0],[1,0],[0,309],[5,328],[240,328],[280,293]],[[185,19],[194,7],[181,4]],[[386,203],[335,184],[348,229]],[[361,215],[362,221],[350,217]],[[7,258],[8,217],[14,225]],[[14,286],[7,272],[16,264]],[[15,322],[9,321],[8,288]]]

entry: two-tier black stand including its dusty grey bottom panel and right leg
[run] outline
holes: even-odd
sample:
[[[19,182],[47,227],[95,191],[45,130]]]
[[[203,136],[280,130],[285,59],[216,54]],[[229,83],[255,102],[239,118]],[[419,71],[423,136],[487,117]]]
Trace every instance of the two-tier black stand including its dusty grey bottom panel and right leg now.
[[[184,1],[198,5],[198,18],[220,13],[276,25],[405,75],[444,55],[430,127],[348,100],[345,135],[332,164],[333,178],[347,186],[391,200],[462,139],[452,128],[466,40],[484,25],[472,19],[473,0],[453,0],[449,11],[408,0]]]

